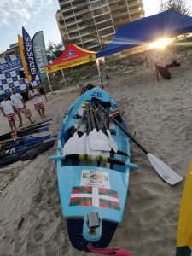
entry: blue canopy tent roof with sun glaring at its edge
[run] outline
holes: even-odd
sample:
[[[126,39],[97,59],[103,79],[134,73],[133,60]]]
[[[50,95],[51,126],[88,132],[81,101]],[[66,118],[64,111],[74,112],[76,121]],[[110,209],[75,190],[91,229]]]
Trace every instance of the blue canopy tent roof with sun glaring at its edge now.
[[[97,52],[96,58],[148,44],[162,37],[172,38],[187,32],[192,32],[192,17],[169,9],[160,14],[119,26],[111,43],[102,51]]]

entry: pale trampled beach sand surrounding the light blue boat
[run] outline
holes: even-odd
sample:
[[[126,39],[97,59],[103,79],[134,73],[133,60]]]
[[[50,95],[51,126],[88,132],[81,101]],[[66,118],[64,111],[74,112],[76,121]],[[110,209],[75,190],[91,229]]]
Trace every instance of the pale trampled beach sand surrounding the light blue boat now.
[[[169,69],[172,79],[163,79],[159,74],[158,81],[154,59],[158,65],[166,66],[174,58],[181,66]],[[109,68],[108,62],[106,67]],[[130,72],[104,84],[104,90],[124,113],[129,130],[136,133],[137,141],[184,178],[175,186],[164,183],[147,156],[131,144],[131,162],[139,170],[131,170],[123,222],[109,247],[124,248],[132,256],[175,255],[180,202],[192,156],[191,67],[191,52],[186,56],[184,52],[160,55],[156,51],[148,58],[148,68],[146,64],[129,67],[127,61]],[[48,102],[42,96],[47,118],[52,119],[47,134],[59,134],[62,117],[79,96],[78,85],[49,93]],[[32,102],[26,102],[26,106],[32,110],[32,119],[40,122]],[[29,125],[26,119],[24,124]],[[9,131],[2,113],[0,125],[0,135]],[[35,160],[0,168],[0,256],[96,255],[76,251],[68,240],[55,162],[47,160],[55,154],[56,143]]]

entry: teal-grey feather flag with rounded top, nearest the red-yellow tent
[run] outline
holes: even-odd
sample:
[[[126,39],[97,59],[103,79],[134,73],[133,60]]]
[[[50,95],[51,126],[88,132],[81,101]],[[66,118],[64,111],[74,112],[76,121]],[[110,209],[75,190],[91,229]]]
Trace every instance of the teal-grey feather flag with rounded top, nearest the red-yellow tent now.
[[[44,44],[44,34],[42,31],[37,32],[32,38],[32,49],[36,67],[38,69],[38,76],[43,83],[44,79],[47,78],[47,73],[44,70],[44,66],[47,66],[49,62]]]

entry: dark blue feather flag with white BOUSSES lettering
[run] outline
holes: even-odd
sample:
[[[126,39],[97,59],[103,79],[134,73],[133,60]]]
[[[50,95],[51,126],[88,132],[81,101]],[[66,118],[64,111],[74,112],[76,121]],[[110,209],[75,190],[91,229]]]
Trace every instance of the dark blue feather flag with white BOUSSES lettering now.
[[[35,65],[35,58],[32,51],[32,39],[29,34],[26,32],[25,28],[22,26],[22,34],[23,34],[23,46],[25,49],[25,57],[27,66],[29,67],[29,71],[31,73],[32,82],[37,79],[38,71]]]

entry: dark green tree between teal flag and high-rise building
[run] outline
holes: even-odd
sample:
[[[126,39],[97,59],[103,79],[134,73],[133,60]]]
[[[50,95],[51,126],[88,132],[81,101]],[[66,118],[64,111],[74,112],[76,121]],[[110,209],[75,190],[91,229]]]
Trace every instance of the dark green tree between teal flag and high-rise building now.
[[[61,56],[63,50],[64,50],[63,44],[55,44],[49,41],[49,44],[47,47],[48,61],[53,62],[56,59],[58,59]]]

